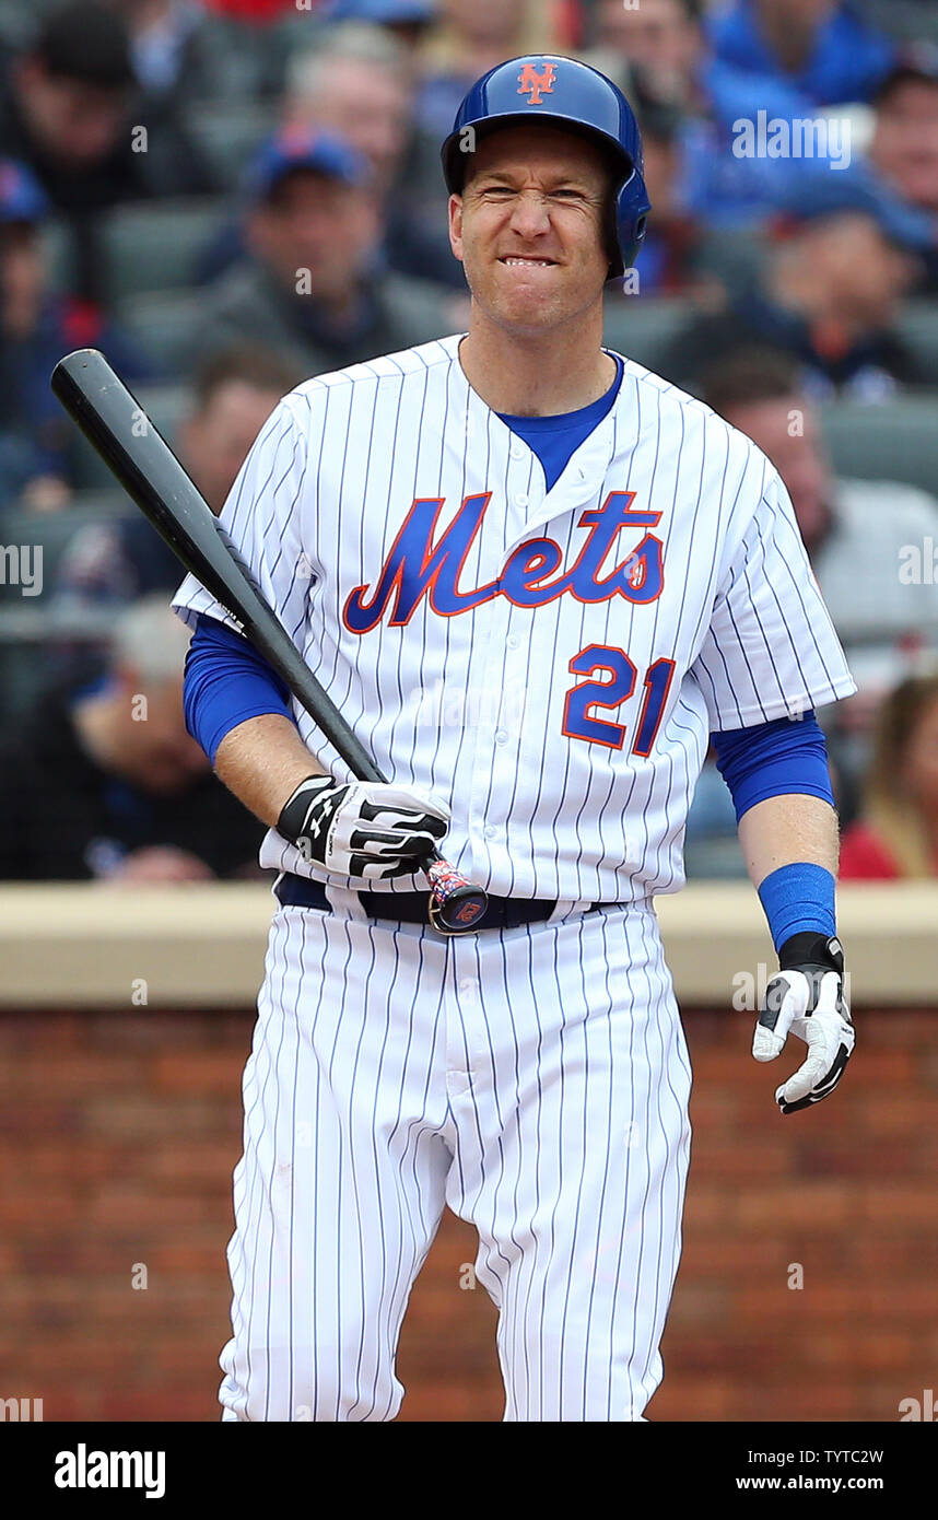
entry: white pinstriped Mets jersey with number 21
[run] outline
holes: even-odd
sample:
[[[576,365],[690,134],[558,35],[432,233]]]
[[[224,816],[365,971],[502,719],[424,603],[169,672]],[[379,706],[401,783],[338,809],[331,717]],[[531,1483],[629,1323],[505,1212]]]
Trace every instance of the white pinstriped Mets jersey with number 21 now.
[[[748,438],[628,359],[547,491],[459,342],[298,386],[222,523],[385,777],[450,804],[444,851],[471,880],[677,891],[708,733],[856,690],[789,497]],[[175,606],[230,622],[192,576]],[[274,830],[260,859],[348,885]]]

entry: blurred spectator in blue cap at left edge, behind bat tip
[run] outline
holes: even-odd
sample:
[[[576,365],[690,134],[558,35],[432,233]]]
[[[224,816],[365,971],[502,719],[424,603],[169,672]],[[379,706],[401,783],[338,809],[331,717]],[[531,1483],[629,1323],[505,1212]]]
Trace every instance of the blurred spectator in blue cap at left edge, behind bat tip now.
[[[152,374],[97,307],[50,293],[41,236],[49,211],[29,169],[0,158],[0,506],[21,499],[55,509],[68,499],[74,432],[49,389],[64,353],[93,345],[129,380]]]

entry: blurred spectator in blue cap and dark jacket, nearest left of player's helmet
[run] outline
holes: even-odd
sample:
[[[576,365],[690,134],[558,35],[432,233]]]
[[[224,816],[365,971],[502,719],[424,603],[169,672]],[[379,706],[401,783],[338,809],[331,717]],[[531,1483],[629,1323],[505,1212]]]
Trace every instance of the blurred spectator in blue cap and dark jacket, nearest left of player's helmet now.
[[[436,286],[382,268],[372,170],[336,134],[265,146],[243,233],[248,252],[207,289],[201,354],[266,344],[315,375],[452,330]]]

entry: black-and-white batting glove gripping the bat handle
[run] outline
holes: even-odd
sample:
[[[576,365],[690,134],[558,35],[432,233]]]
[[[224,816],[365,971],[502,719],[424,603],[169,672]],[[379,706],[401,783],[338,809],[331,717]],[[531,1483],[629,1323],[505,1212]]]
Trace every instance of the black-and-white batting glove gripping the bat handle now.
[[[448,819],[445,803],[386,781],[310,775],[284,803],[277,831],[327,871],[386,882],[420,871]]]

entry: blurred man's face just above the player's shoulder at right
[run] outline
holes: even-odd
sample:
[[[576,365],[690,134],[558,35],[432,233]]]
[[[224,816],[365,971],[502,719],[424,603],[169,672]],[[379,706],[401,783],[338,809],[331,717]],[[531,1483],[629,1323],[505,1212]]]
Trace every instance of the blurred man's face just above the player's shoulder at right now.
[[[830,476],[818,421],[803,397],[753,401],[727,410],[727,421],[762,448],[781,476],[810,549],[827,527]]]

